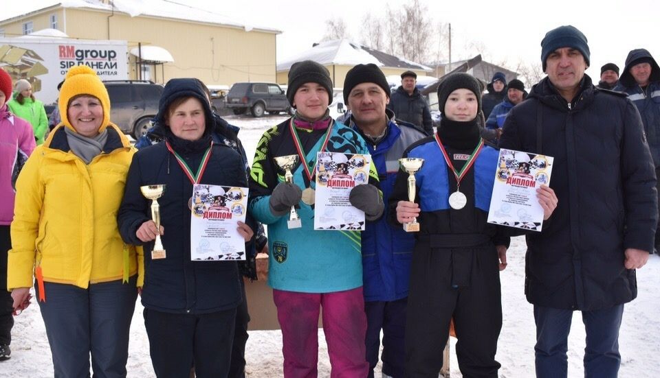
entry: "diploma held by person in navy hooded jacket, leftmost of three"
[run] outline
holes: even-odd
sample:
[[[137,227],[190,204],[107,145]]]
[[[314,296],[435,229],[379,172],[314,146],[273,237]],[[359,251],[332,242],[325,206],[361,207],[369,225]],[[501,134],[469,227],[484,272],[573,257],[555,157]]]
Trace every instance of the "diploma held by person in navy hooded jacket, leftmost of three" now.
[[[248,212],[248,188],[194,185],[190,259],[245,260],[245,239],[236,231]]]

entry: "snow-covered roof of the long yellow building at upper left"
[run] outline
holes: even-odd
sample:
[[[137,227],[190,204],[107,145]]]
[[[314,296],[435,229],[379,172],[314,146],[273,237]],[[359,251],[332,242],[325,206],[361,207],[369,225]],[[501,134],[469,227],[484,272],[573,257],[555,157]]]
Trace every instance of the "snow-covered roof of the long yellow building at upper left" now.
[[[195,21],[199,23],[212,23],[217,25],[225,25],[230,27],[240,27],[245,29],[245,32],[250,32],[253,29],[258,29],[262,32],[272,32],[279,34],[280,30],[272,27],[250,25],[249,23],[241,23],[236,21],[235,18],[223,16],[222,14],[211,12],[208,9],[195,8],[183,3],[175,3],[172,1],[163,0],[113,0],[115,12],[123,12],[129,14],[131,17],[135,16],[153,16],[166,19],[177,19],[184,21]],[[209,8],[212,3],[209,3]],[[96,10],[111,11],[112,6],[102,3],[100,0],[61,0],[53,1],[52,5],[45,8],[50,8],[53,5],[61,5],[63,8],[87,8]],[[43,9],[43,8],[42,8]],[[30,13],[35,10],[28,10]]]

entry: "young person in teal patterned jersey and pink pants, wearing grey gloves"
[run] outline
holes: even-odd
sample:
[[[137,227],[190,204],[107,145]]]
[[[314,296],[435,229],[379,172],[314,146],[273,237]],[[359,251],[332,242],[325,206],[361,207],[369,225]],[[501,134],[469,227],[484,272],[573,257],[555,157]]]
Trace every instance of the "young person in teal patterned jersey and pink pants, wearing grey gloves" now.
[[[366,316],[362,296],[360,231],[314,230],[317,152],[369,154],[358,132],[329,117],[332,81],[328,70],[311,60],[296,62],[289,71],[287,99],[294,117],[267,130],[256,146],[250,172],[249,209],[268,225],[270,253],[268,284],[273,288],[282,329],[284,376],[316,377],[318,316],[323,308],[323,331],[333,377],[364,378]],[[293,183],[274,158],[298,156]],[[355,185],[350,202],[367,221],[384,210],[378,176],[371,165],[369,184]],[[301,202],[301,199],[303,200]],[[289,228],[296,206],[301,224]]]

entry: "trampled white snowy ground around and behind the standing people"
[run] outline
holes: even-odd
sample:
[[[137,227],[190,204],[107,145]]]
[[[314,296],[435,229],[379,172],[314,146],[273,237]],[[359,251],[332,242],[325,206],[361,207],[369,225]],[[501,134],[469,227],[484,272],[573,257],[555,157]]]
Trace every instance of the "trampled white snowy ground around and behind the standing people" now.
[[[227,117],[241,127],[241,137],[250,160],[261,134],[285,117]],[[533,345],[535,327],[531,305],[522,292],[525,279],[525,239],[515,238],[509,249],[508,268],[500,274],[502,281],[503,328],[498,343],[497,359],[502,364],[501,378],[533,377]],[[660,257],[652,255],[648,264],[637,272],[639,295],[626,305],[621,324],[620,377],[660,377]],[[275,314],[273,314],[275,316]],[[17,316],[12,331],[12,358],[0,362],[0,377],[52,377],[50,348],[45,335],[39,307],[30,306]],[[330,376],[330,364],[323,332],[319,330],[319,377]],[[452,340],[452,348],[455,343]],[[251,331],[245,359],[248,377],[282,377],[281,333],[279,331]],[[573,317],[569,338],[569,377],[583,377],[584,325],[580,313]],[[452,377],[461,377],[452,353]],[[153,377],[148,353],[148,340],[142,320],[142,306],[138,303],[131,327],[129,346],[129,377]],[[380,374],[377,374],[380,377]]]

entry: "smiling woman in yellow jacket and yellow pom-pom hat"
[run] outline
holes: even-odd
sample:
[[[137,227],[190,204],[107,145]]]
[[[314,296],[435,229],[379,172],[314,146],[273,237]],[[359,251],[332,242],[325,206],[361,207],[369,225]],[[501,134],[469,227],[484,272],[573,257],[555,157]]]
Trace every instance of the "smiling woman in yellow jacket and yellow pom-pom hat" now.
[[[135,150],[109,120],[94,70],[69,70],[62,123],[34,150],[17,181],[8,290],[14,309],[34,284],[55,377],[126,377],[142,251],[123,243],[116,214]]]

